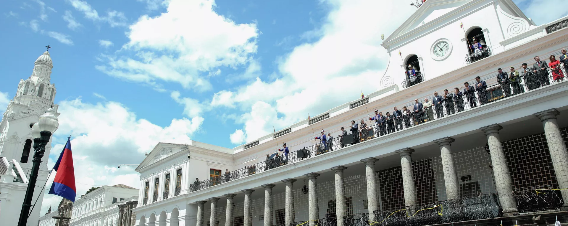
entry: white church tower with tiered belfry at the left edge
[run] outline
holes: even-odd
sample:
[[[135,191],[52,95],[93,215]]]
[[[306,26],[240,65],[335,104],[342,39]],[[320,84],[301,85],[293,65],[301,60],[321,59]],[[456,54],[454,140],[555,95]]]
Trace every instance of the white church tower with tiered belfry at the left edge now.
[[[48,49],[49,50],[49,49]],[[57,113],[55,84],[50,82],[53,62],[49,52],[39,56],[29,78],[20,80],[14,99],[10,101],[0,122],[0,219],[6,225],[17,225],[22,203],[27,190],[28,176],[34,156],[31,127],[39,117],[53,105]],[[49,170],[47,161],[51,151],[51,140],[45,146],[43,163],[40,165],[37,185],[43,186]],[[36,187],[36,202],[28,224],[34,225],[39,219],[44,191]],[[3,224],[2,223],[2,224]]]

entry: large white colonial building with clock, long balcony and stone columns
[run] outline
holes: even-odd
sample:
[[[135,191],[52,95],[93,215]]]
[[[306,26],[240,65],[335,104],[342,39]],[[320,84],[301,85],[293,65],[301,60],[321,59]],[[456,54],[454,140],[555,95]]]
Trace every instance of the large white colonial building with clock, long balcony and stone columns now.
[[[566,222],[568,83],[553,79],[565,63],[548,62],[568,46],[567,19],[536,26],[511,0],[428,0],[383,42],[389,66],[365,99],[232,150],[158,143],[136,169],[136,225]],[[454,87],[465,95],[444,94]],[[429,106],[435,91],[448,98]],[[390,130],[367,117],[395,106],[408,114]],[[367,127],[352,134],[352,120]],[[314,139],[322,129],[331,142]],[[272,156],[282,142],[289,155]]]

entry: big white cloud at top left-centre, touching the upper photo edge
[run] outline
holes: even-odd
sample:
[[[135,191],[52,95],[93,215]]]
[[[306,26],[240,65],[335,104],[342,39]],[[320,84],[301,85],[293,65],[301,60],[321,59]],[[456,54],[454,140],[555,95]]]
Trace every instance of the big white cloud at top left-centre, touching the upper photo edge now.
[[[136,53],[137,59],[106,56],[108,65],[97,68],[153,86],[161,81],[176,82],[183,88],[204,91],[211,88],[208,71],[243,65],[256,53],[256,24],[237,24],[216,14],[212,0],[167,3],[167,12],[141,16],[130,25],[130,41],[124,48]]]

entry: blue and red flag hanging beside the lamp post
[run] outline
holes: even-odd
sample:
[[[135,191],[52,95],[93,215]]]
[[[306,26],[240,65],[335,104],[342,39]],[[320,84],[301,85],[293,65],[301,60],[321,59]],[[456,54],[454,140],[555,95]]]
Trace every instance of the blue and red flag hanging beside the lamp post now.
[[[67,143],[61,151],[57,163],[53,167],[57,172],[53,179],[49,194],[59,195],[60,197],[75,202],[77,190],[75,189],[75,170],[73,169],[73,155],[71,153],[71,140],[67,138]]]

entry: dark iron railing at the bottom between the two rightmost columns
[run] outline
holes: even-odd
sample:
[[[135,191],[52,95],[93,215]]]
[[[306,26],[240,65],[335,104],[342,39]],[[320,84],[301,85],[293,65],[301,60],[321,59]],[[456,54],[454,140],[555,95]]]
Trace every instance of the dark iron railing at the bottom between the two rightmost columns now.
[[[556,210],[562,207],[562,194],[559,189],[553,187],[515,190],[512,194],[517,201],[519,212]]]

